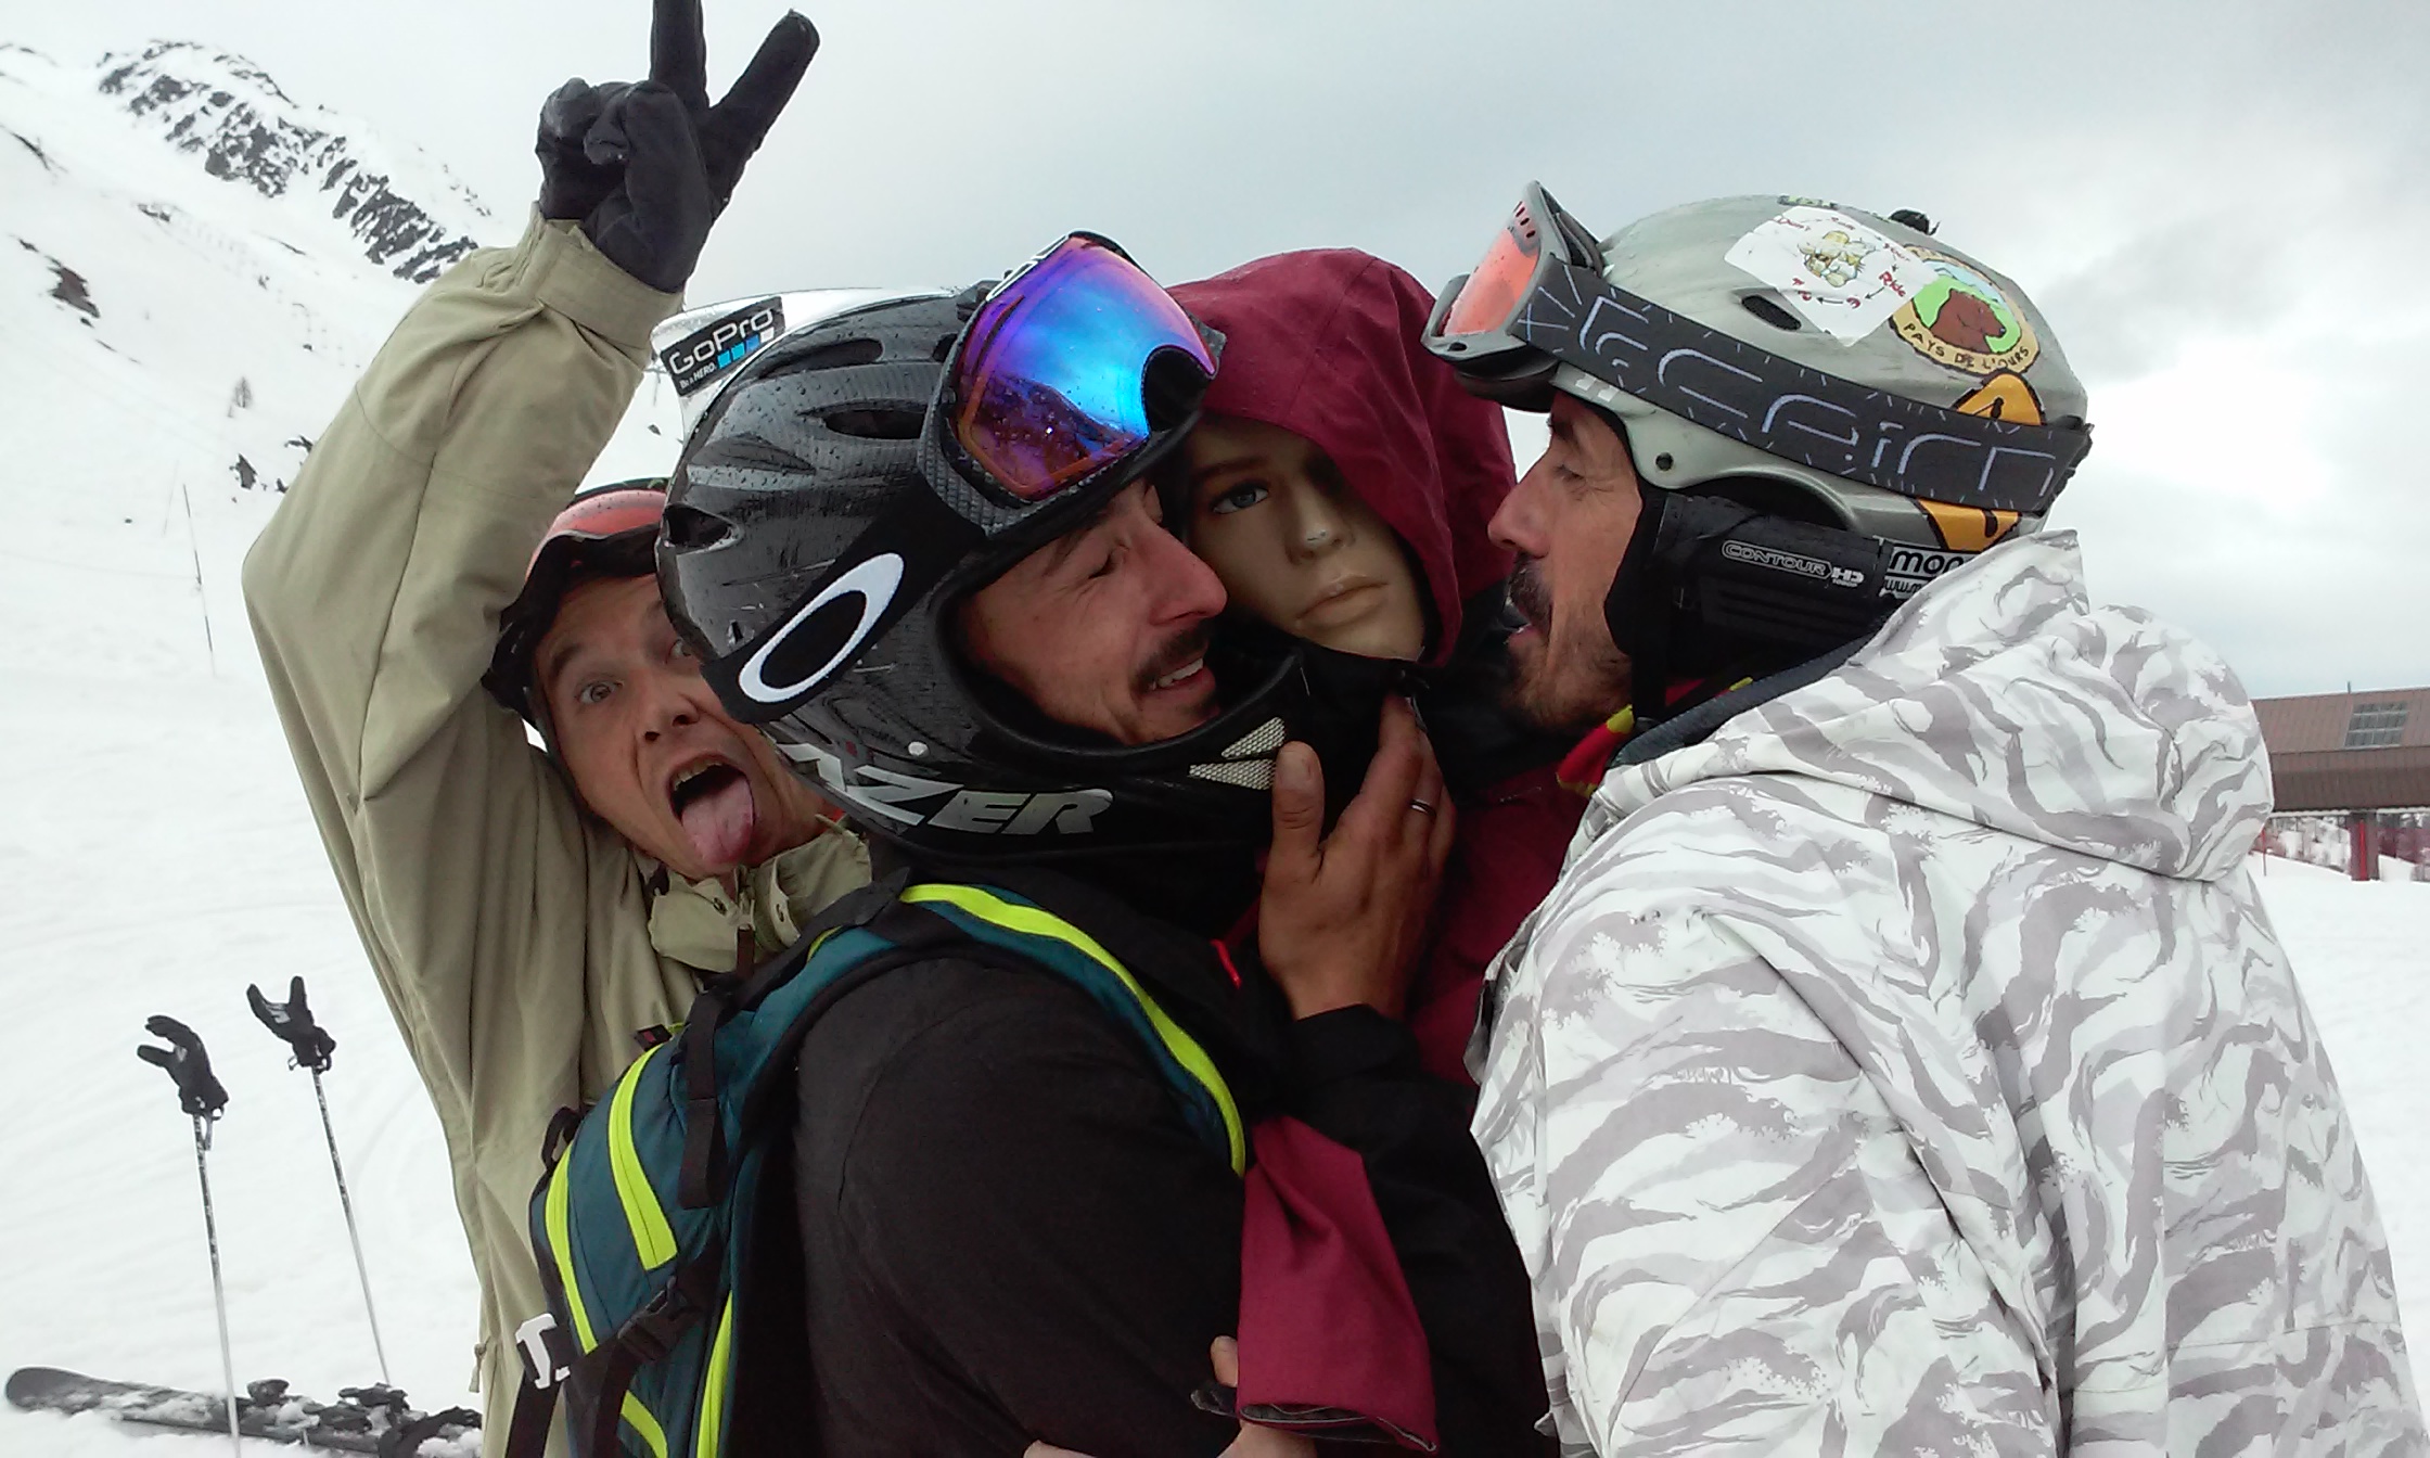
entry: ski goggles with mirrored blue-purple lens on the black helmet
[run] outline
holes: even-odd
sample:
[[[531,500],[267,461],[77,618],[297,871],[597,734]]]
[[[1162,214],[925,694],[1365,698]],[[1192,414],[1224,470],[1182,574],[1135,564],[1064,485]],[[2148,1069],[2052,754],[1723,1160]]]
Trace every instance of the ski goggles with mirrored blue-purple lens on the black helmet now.
[[[1115,243],[1062,238],[987,294],[945,360],[928,445],[987,498],[955,505],[994,532],[1179,437],[1217,350]]]

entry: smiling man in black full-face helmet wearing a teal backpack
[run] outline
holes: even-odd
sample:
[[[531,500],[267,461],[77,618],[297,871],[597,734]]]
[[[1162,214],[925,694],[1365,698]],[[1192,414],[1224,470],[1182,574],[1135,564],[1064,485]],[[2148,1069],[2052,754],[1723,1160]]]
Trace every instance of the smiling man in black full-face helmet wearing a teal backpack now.
[[[1431,751],[1388,668],[1213,629],[1147,484],[1215,345],[1076,233],[761,350],[673,476],[661,581],[707,680],[872,836],[892,926],[933,919],[799,1052],[829,1456],[1225,1448],[1191,1392],[1244,1319],[1244,1176],[1339,1222],[1319,1259],[1390,1251],[1349,1288],[1424,1327],[1375,1361],[1431,1373],[1397,1424],[1293,1412],[1244,1334],[1244,1417],[1543,1446],[1465,1101],[1390,1016],[1451,841]]]

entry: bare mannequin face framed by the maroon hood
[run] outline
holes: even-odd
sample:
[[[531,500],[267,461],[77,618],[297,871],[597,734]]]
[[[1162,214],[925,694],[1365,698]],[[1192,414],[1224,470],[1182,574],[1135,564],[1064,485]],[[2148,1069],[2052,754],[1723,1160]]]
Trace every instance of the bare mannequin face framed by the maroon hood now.
[[[1317,442],[1264,420],[1208,416],[1183,454],[1191,549],[1234,608],[1344,654],[1426,654],[1424,588],[1409,554]]]

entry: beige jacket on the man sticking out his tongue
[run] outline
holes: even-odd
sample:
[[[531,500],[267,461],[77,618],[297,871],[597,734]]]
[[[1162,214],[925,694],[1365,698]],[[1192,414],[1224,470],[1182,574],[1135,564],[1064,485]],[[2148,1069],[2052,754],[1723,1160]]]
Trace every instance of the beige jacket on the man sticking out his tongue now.
[[[775,950],[868,880],[833,833],[758,868],[741,902],[668,885],[481,690],[498,612],[678,304],[569,224],[469,255],[396,326],[245,559],[304,792],[447,1135],[491,1451],[513,1332],[544,1310],[525,1210],[549,1115],[600,1096],[637,1030],[683,1018],[746,916]]]

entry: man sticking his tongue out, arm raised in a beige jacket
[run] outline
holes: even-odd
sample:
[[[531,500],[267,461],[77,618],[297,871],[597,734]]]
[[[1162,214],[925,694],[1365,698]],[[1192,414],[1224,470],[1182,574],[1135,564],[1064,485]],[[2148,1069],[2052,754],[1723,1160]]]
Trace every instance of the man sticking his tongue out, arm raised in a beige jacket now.
[[[697,974],[865,880],[668,627],[661,486],[569,508],[816,46],[787,17],[710,107],[700,32],[697,0],[663,0],[649,83],[549,97],[522,241],[416,301],[245,561],[306,797],[447,1137],[501,1436],[513,1334],[547,1310],[522,1203],[549,1115]]]

